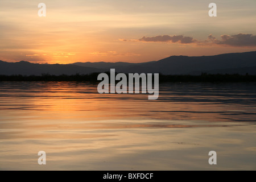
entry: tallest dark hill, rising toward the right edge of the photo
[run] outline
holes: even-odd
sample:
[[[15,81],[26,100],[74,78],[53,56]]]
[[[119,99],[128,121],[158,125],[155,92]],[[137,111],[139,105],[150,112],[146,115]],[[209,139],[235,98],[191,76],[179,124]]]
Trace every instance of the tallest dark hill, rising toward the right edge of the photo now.
[[[159,61],[129,65],[118,69],[120,72],[162,73],[164,75],[199,75],[207,73],[255,74],[251,67],[256,66],[256,51],[226,53],[216,56],[171,56]]]

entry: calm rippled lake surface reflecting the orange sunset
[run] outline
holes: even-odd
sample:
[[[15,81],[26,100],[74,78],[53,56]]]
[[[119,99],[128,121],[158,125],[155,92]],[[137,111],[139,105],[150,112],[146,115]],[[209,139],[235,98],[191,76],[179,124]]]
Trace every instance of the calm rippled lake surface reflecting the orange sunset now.
[[[255,83],[159,88],[148,100],[86,82],[0,82],[0,169],[256,169]]]

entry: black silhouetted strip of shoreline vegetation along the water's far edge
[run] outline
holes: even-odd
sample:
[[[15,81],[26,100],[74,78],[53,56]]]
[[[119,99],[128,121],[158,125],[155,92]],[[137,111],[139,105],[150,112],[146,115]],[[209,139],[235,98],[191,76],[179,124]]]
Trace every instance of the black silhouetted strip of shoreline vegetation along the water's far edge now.
[[[109,77],[110,73],[106,72]],[[0,75],[0,81],[90,81],[100,82],[97,80],[98,74],[91,73],[88,75],[49,75],[41,76],[24,76],[24,75]],[[127,78],[128,78],[128,74]],[[159,82],[256,82],[256,75],[239,75],[239,74],[207,74],[201,75],[163,75],[159,73]]]

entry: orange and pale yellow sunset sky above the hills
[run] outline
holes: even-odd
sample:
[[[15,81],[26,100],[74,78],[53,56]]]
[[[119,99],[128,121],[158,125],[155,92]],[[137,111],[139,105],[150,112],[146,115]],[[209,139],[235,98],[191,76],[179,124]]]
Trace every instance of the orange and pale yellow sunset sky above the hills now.
[[[46,16],[39,16],[39,3]],[[217,16],[208,7],[216,3]],[[0,60],[142,63],[256,51],[255,0],[1,0]]]

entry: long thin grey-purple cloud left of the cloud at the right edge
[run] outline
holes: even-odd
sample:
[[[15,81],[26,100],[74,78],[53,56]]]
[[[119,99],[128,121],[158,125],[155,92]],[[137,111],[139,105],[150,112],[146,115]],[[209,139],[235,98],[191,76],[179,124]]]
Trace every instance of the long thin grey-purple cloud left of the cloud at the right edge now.
[[[143,38],[139,39],[138,41],[141,42],[172,42],[176,43],[179,42],[181,44],[189,44],[196,42],[195,39],[189,36],[183,36],[183,35],[158,35],[158,36],[152,36],[152,37],[146,37],[143,36]]]

